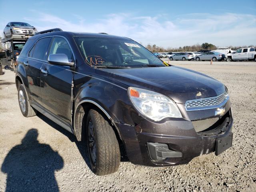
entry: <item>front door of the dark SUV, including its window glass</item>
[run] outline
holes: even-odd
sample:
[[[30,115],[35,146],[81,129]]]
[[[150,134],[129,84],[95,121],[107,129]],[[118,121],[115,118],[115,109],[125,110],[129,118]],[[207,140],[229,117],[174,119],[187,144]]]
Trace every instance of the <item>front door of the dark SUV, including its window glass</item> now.
[[[49,50],[50,54],[66,54],[74,62],[74,54],[68,40],[54,36]],[[43,107],[72,126],[72,81],[74,68],[53,65],[46,62],[41,70],[41,93]]]

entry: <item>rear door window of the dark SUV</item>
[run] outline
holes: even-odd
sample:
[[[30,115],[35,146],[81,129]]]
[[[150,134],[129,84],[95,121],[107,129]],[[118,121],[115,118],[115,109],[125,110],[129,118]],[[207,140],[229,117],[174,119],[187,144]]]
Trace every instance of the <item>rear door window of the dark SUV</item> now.
[[[46,37],[38,40],[38,42],[35,45],[32,58],[45,61],[50,40],[51,40],[51,37]],[[30,57],[31,57],[31,54],[30,54]]]

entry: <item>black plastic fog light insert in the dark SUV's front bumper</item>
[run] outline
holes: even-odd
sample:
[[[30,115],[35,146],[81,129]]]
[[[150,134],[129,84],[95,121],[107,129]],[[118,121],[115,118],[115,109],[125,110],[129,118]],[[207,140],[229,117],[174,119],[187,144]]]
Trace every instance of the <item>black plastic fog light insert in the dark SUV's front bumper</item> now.
[[[173,151],[163,143],[147,143],[149,156],[152,160],[161,161],[171,157],[182,157],[182,152]]]

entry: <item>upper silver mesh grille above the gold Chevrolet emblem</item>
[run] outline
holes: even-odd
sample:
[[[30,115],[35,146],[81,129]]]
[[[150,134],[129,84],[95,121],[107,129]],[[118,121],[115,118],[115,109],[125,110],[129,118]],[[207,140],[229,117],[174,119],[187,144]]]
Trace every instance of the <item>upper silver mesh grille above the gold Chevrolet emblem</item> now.
[[[197,108],[197,107],[208,107],[221,104],[228,97],[228,93],[224,92],[215,97],[208,97],[202,99],[188,100],[186,102],[186,109]]]

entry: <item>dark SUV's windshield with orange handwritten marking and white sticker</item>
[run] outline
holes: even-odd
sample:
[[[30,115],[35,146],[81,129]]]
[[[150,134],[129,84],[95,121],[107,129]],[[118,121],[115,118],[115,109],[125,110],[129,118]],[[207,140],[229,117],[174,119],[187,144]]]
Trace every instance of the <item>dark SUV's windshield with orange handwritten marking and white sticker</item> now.
[[[90,66],[165,66],[157,56],[130,39],[75,36],[74,40]]]

